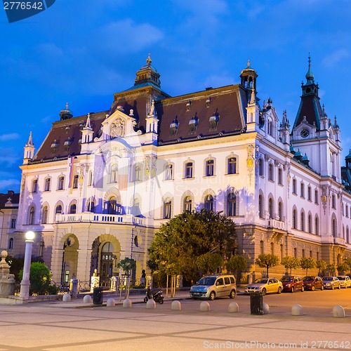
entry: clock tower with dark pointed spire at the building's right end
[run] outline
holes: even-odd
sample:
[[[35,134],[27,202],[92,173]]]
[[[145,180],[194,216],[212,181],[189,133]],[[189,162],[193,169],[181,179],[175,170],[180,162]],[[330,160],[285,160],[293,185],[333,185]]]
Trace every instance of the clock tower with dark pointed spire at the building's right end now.
[[[302,154],[307,155],[310,168],[340,182],[339,128],[331,124],[324,105],[321,106],[319,86],[314,82],[310,57],[305,77],[306,83],[301,84],[300,106],[291,131],[291,144],[295,150],[300,149]]]

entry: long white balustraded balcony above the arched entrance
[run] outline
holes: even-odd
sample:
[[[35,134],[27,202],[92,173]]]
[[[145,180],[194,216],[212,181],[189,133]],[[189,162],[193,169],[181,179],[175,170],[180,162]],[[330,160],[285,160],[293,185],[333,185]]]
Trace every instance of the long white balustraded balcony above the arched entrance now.
[[[111,224],[133,224],[143,225],[144,218],[134,217],[133,215],[108,215],[102,213],[58,213],[55,223],[111,223]]]

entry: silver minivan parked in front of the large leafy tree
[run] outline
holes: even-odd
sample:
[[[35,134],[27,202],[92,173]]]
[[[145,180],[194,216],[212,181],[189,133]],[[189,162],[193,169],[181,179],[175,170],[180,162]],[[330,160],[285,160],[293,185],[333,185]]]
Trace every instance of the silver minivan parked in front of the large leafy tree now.
[[[214,300],[216,297],[229,296],[234,298],[237,295],[237,284],[234,275],[221,274],[203,277],[190,288],[192,298],[208,298]]]

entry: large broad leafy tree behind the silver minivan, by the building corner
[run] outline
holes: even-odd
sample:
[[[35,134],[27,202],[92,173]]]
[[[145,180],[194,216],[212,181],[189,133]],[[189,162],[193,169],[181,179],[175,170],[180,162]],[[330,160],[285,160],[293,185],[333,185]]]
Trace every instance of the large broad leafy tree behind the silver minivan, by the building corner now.
[[[177,273],[184,279],[196,280],[197,258],[206,253],[230,257],[236,241],[235,223],[222,213],[204,208],[186,211],[161,225],[150,245],[147,264],[154,272],[166,272],[169,262],[178,262]]]

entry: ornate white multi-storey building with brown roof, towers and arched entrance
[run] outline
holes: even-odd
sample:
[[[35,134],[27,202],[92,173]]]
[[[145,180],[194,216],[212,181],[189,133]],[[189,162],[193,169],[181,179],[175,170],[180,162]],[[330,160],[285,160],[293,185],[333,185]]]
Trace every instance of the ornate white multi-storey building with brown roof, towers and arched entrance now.
[[[249,62],[240,84],[174,98],[151,62],[110,110],[73,117],[66,106],[35,154],[29,136],[14,251],[34,230],[56,282],[95,268],[108,280],[124,257],[140,277],[159,225],[205,206],[237,223],[247,272],[262,271],[260,253],[336,265],[351,255],[351,155],[341,168],[310,61],[292,125],[272,100],[260,107]]]

